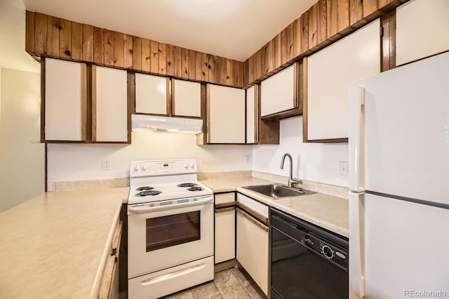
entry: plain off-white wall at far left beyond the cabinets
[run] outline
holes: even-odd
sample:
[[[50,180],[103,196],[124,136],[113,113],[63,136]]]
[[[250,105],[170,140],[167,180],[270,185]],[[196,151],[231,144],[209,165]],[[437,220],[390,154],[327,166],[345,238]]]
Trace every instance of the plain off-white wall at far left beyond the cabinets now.
[[[44,191],[41,75],[1,69],[0,212]]]

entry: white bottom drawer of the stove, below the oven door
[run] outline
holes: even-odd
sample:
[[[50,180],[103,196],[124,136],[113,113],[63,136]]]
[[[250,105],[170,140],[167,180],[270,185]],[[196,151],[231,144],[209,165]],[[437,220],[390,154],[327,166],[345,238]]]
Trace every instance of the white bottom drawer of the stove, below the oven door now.
[[[128,297],[159,298],[213,280],[213,256],[129,280]]]

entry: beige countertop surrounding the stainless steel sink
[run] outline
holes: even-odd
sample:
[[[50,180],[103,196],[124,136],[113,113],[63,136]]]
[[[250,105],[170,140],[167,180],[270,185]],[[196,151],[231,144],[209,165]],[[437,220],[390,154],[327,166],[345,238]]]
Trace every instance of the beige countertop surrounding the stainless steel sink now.
[[[341,197],[315,193],[299,197],[272,199],[263,194],[251,191],[243,186],[272,184],[269,180],[259,178],[208,178],[201,183],[210,187],[213,192],[237,191],[261,201],[268,206],[294,215],[349,238],[349,201]]]

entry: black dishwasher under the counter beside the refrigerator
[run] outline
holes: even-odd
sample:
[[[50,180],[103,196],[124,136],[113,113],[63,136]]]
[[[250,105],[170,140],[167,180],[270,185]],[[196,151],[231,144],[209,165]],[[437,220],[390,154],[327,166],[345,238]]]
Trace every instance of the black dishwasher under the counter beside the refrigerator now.
[[[349,297],[348,239],[272,209],[272,298]]]

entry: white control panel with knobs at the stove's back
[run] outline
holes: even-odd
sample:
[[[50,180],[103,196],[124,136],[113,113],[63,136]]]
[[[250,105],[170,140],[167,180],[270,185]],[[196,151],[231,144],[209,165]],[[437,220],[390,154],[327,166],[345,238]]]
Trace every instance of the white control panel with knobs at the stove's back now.
[[[195,159],[132,161],[130,178],[196,173]]]

